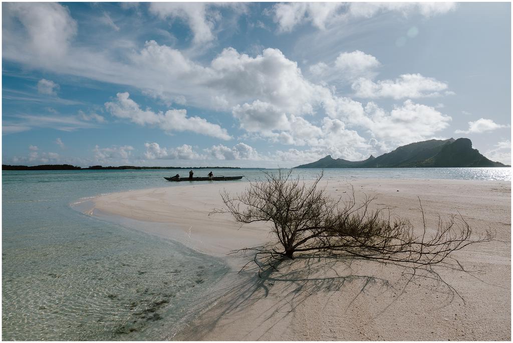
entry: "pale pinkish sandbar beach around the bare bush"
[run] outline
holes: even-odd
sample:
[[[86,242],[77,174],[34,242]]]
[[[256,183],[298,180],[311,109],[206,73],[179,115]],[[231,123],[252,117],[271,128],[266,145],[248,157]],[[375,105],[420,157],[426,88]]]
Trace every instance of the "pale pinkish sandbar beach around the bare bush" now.
[[[224,296],[174,339],[179,340],[510,340],[511,186],[505,181],[351,180],[357,196],[376,196],[375,207],[421,223],[418,196],[429,224],[460,213],[475,232],[496,231],[491,243],[455,256],[467,272],[437,269],[453,289],[390,264],[310,255],[279,271],[236,274],[249,256],[229,255],[272,239],[263,225],[240,227],[221,207],[220,191],[245,183],[214,183],[130,191],[92,199],[87,213],[120,216],[148,233],[195,250],[225,256],[233,273]],[[346,181],[327,191],[344,196]],[[144,224],[144,225],[142,225]]]

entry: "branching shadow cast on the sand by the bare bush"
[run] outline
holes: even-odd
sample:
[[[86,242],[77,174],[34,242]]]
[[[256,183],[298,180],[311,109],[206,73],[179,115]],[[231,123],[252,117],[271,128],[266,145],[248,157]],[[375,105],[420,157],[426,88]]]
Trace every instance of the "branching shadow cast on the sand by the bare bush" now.
[[[251,257],[247,252],[240,253]],[[241,326],[248,331],[241,331],[238,339],[265,339],[262,337],[274,327],[286,325],[295,310],[311,306],[307,304],[311,296],[322,310],[332,306],[333,299],[346,311],[370,299],[376,317],[398,301],[411,301],[401,299],[413,294],[432,299],[426,311],[447,307],[454,301],[464,304],[465,299],[450,281],[442,278],[446,271],[459,271],[484,283],[478,277],[481,270],[464,269],[456,260],[419,268],[318,252],[277,260],[273,266],[254,265],[239,272],[235,284],[208,310],[208,315],[200,315],[173,339],[201,340],[214,328],[223,330],[239,320],[251,323]],[[244,319],[248,313],[252,317]]]

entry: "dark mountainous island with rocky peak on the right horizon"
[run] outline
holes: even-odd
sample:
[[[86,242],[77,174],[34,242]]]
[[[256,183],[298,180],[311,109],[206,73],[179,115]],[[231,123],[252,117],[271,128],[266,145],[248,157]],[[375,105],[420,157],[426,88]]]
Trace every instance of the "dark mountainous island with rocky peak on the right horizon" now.
[[[317,162],[295,168],[401,168],[401,167],[509,167],[493,162],[472,149],[468,138],[430,139],[411,143],[389,153],[363,161],[333,159],[330,155]]]

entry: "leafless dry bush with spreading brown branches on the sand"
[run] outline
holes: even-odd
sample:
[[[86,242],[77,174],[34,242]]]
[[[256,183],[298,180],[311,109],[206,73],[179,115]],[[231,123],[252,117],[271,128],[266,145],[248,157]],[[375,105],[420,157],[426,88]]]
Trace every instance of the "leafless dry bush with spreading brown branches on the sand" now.
[[[468,245],[493,238],[488,231],[473,235],[466,220],[456,215],[445,221],[439,217],[433,229],[424,220],[416,230],[408,219],[392,217],[388,209],[370,210],[373,198],[357,203],[354,190],[345,201],[329,197],[319,185],[322,176],[307,186],[299,177],[291,177],[291,172],[266,173],[263,180],[250,182],[242,194],[232,196],[225,191],[226,208],[213,213],[229,213],[242,224],[272,224],[278,242],[249,248],[256,251],[254,261],[259,266],[263,256],[294,258],[294,254],[313,251],[430,266]],[[419,204],[424,219],[420,199]]]

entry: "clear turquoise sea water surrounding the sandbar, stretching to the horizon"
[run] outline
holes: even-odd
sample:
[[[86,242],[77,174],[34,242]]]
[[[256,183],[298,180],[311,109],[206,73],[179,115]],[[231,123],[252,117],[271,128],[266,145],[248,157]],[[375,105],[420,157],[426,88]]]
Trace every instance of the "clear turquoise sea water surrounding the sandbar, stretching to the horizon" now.
[[[259,169],[213,172],[263,175]],[[320,172],[293,170],[305,179]],[[2,338],[171,337],[227,273],[224,261],[86,216],[70,204],[98,194],[192,185],[163,179],[176,173],[188,170],[3,171]],[[195,176],[207,173],[196,170]],[[329,169],[324,178],[511,180],[511,169]]]

